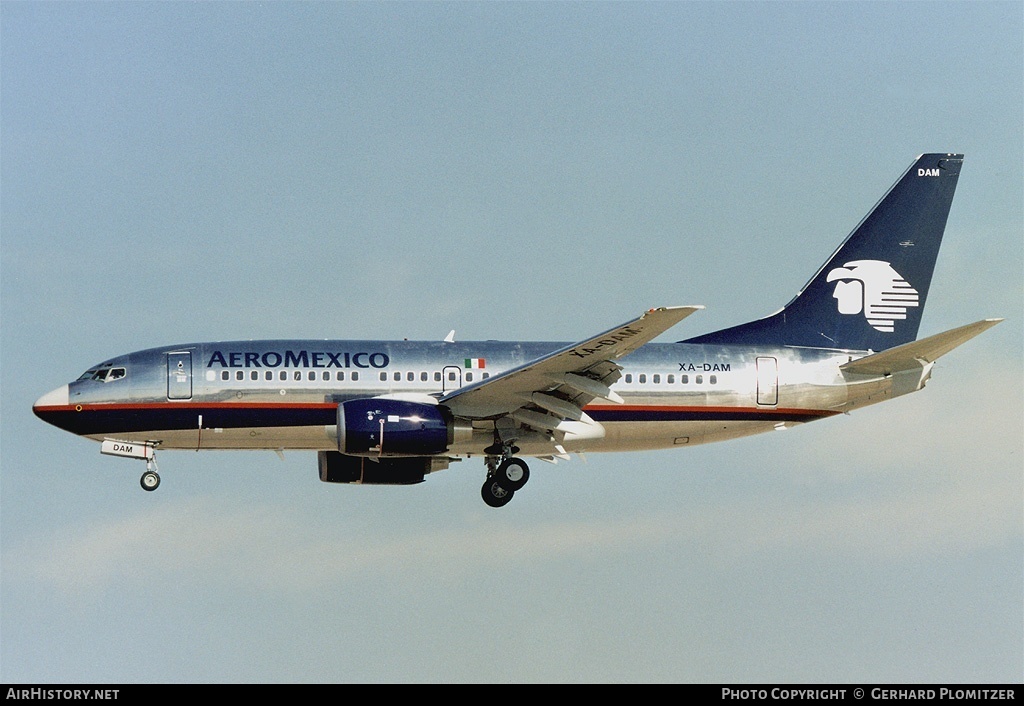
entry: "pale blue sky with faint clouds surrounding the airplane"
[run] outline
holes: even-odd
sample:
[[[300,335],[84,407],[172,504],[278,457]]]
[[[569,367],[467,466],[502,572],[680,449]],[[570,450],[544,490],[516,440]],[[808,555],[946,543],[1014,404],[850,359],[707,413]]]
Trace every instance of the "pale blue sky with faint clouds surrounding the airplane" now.
[[[1024,673],[1020,3],[0,4],[0,679]],[[963,152],[923,392],[784,433],[331,487],[47,426],[111,356],[578,340],[784,304]],[[465,467],[464,467],[465,466]]]

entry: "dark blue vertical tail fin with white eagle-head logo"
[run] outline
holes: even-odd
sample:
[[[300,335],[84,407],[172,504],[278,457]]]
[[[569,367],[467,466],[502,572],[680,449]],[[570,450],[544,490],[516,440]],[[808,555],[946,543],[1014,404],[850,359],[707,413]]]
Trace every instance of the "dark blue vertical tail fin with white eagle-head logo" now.
[[[922,155],[780,312],[686,343],[885,350],[915,340],[964,155]]]

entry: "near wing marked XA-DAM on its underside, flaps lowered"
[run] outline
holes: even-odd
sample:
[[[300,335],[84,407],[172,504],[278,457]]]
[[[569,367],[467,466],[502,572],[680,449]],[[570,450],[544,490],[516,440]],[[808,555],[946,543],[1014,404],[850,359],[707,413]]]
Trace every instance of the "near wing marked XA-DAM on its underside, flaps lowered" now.
[[[595,398],[621,403],[622,399],[609,389],[622,370],[613,361],[701,308],[652,308],[596,336],[462,387],[439,402],[458,417],[510,416],[532,428],[550,431],[563,420],[579,421],[585,416],[583,407]]]

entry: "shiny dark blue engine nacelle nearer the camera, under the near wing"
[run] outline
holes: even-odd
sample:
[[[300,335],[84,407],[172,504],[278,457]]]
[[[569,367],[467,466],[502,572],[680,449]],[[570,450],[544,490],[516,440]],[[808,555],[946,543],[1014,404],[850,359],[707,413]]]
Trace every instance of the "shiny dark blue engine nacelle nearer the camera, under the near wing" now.
[[[447,409],[369,398],[338,405],[338,451],[354,456],[432,456],[447,451],[455,424]]]

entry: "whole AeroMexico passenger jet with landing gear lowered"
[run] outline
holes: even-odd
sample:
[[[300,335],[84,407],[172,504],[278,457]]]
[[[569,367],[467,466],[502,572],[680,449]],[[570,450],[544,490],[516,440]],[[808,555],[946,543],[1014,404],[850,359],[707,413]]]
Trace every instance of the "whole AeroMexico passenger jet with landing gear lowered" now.
[[[33,411],[144,460],[317,454],[321,481],[410,485],[478,457],[507,504],[524,458],[674,449],[785,429],[922,389],[935,361],[1002,321],[918,339],[964,155],[918,157],[803,289],[766,318],[652,342],[702,306],[650,308],[574,343],[254,340],[117,356]]]

